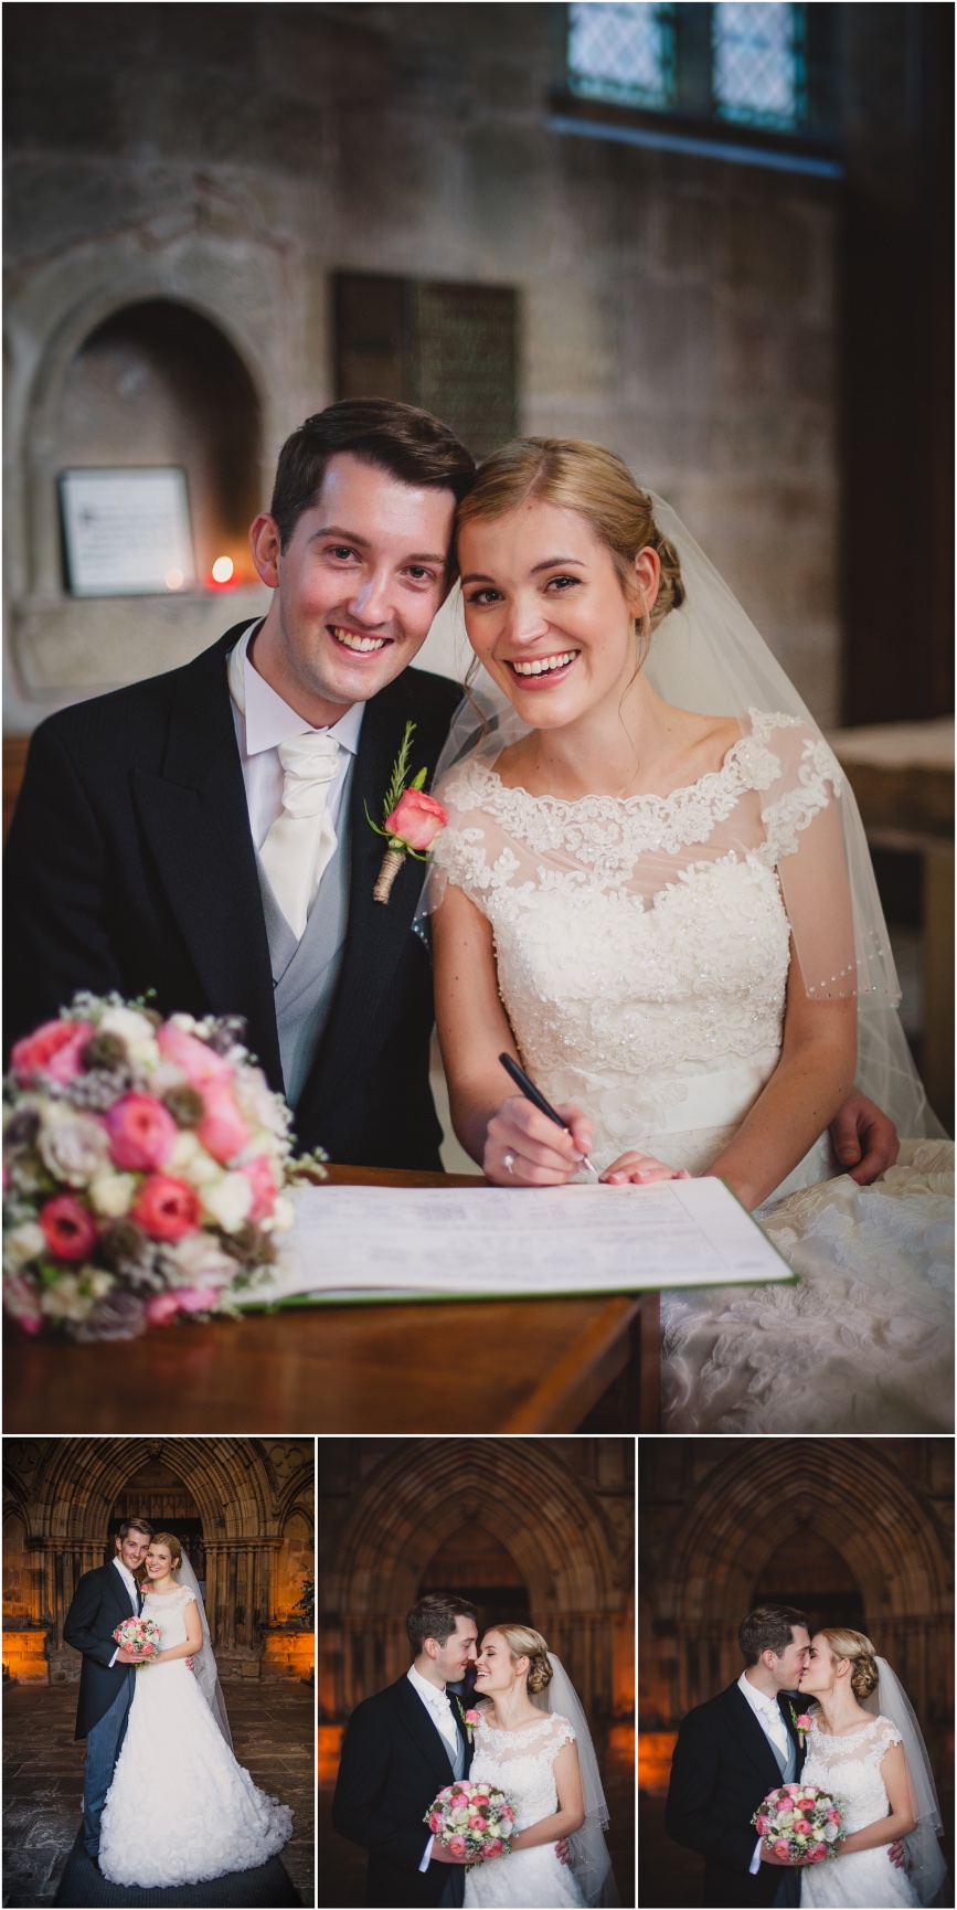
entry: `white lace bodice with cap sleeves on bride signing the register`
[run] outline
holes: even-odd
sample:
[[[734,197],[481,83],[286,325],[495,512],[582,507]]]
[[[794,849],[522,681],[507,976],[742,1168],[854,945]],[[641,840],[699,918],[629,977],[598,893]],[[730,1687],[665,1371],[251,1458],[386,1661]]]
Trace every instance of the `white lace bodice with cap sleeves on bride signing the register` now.
[[[550,1100],[588,1108],[600,1165],[695,1131],[667,1157],[701,1167],[774,1072],[779,871],[839,783],[819,739],[760,712],[720,770],[669,796],[531,796],[481,758],[445,779],[436,861],[489,919],[521,1058]],[[848,968],[846,947],[827,959]]]

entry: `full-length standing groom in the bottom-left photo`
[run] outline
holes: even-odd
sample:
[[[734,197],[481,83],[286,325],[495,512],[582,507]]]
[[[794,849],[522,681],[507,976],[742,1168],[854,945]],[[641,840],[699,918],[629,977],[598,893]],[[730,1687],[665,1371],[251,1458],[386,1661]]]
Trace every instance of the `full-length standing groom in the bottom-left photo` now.
[[[128,1518],[117,1536],[117,1557],[84,1572],[63,1622],[67,1645],[82,1652],[76,1738],[86,1738],[82,1784],[82,1841],[99,1868],[99,1818],[113,1784],[113,1771],[126,1736],[134,1700],[136,1658],[113,1633],[124,1618],[139,1618],[141,1593],[136,1574],[149,1551],[153,1526]]]

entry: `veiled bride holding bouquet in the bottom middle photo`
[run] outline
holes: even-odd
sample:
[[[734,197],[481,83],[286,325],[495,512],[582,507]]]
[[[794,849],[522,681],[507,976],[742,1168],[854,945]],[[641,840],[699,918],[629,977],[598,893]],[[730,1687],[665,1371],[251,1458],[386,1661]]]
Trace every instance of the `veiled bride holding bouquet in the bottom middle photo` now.
[[[476,1700],[481,1723],[468,1778],[510,1795],[516,1834],[508,1858],[466,1870],[466,1910],[617,1902],[602,1836],[606,1799],[585,1713],[539,1631],[497,1625],[485,1633]],[[569,1837],[567,1866],[556,1857],[560,1837]]]

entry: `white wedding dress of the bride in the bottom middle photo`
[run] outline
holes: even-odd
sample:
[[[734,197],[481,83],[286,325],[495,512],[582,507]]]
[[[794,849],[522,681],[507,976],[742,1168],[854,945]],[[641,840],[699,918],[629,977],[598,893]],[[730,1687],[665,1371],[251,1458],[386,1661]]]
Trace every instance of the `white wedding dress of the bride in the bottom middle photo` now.
[[[476,1755],[468,1772],[470,1784],[479,1780],[508,1792],[516,1805],[516,1830],[527,1830],[542,1816],[558,1811],[554,1759],[564,1744],[573,1744],[575,1732],[567,1717],[556,1711],[525,1730],[495,1730],[476,1725]],[[508,1910],[550,1910],[550,1906],[583,1904],[569,1864],[556,1857],[556,1841],[535,1843],[531,1851],[512,1851],[493,1857],[487,1864],[466,1870],[466,1910],[470,1906],[502,1904]]]

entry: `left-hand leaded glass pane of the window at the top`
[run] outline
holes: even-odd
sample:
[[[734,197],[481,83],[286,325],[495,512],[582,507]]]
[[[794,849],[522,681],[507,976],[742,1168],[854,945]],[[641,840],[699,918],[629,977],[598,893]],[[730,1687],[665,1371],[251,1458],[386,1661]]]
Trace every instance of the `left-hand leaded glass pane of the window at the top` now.
[[[569,6],[569,84],[592,99],[674,103],[674,6]]]

